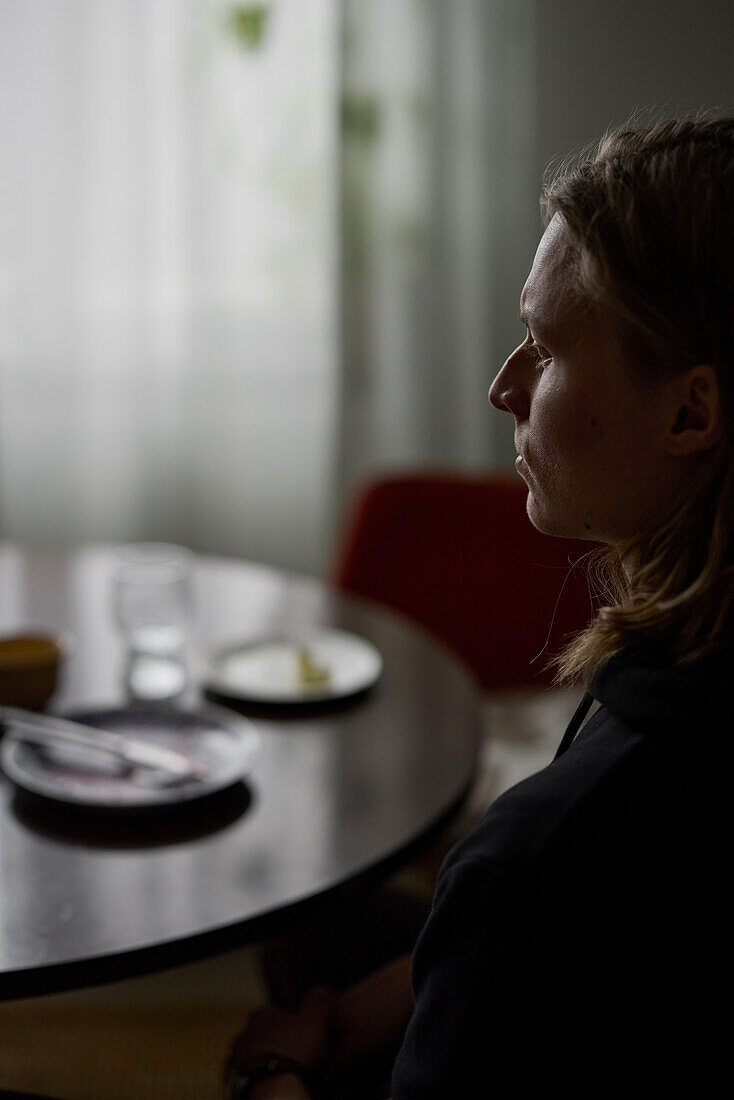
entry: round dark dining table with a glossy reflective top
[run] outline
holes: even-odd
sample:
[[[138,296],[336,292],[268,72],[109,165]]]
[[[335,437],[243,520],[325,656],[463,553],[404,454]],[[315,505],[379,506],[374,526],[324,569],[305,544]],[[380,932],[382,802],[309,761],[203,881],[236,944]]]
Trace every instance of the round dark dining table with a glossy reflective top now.
[[[0,543],[0,635],[74,638],[54,714],[128,700],[114,568],[110,546]],[[276,934],[399,868],[470,789],[481,692],[437,639],[319,580],[240,560],[196,557],[193,595],[187,705],[193,693],[240,722],[245,714],[260,740],[252,770],[154,814],[84,812],[0,773],[2,999],[114,981]],[[207,654],[315,628],[372,642],[377,682],[295,707],[205,693]]]

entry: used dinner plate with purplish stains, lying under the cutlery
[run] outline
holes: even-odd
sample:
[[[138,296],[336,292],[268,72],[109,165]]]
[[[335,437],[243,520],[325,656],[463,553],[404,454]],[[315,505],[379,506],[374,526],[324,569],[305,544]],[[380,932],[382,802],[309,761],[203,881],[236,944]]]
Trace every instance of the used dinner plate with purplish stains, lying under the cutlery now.
[[[156,787],[145,769],[123,774],[117,773],[113,766],[92,770],[70,765],[9,730],[0,745],[0,765],[9,779],[33,794],[78,806],[132,810],[204,798],[247,776],[260,745],[252,724],[224,707],[190,711],[120,707],[75,711],[64,717],[175,749],[206,769],[202,779]]]

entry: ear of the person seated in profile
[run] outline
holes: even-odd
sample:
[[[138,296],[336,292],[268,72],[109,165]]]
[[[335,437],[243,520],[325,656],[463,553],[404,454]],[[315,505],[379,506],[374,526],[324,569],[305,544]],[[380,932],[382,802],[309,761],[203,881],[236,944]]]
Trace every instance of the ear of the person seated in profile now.
[[[721,439],[721,399],[715,367],[692,366],[676,378],[671,393],[667,452],[673,457],[708,451]]]

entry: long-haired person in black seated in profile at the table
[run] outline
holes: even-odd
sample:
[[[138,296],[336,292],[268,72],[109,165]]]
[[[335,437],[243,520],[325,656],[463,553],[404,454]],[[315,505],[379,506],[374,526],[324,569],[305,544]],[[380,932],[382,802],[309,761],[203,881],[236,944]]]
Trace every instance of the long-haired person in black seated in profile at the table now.
[[[705,1094],[725,1068],[734,119],[612,132],[544,205],[490,400],[530,520],[604,543],[607,604],[558,661],[587,694],[554,762],[445,861],[414,1007],[398,960],[256,1014],[235,1059],[294,1064],[255,1070],[254,1100],[309,1096],[406,1023],[393,1100]]]

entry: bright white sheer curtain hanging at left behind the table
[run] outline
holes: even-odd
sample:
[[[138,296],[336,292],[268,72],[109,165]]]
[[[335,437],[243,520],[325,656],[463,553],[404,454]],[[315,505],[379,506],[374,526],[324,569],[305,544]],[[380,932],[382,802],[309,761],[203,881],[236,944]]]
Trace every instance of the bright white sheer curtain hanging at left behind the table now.
[[[335,0],[0,3],[0,535],[318,568]]]

